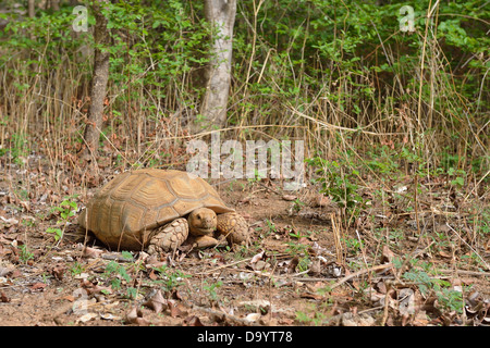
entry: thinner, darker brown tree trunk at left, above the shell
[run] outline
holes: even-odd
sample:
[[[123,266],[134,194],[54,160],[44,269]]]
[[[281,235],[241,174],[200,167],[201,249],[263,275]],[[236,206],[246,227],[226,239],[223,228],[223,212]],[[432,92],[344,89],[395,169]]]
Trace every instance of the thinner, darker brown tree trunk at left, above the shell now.
[[[82,151],[82,158],[88,159],[97,157],[99,148],[99,137],[102,129],[103,100],[106,98],[107,82],[109,79],[109,51],[110,44],[109,29],[107,28],[107,18],[101,12],[101,5],[107,0],[100,0],[93,10],[96,17],[94,29],[95,59],[94,76],[90,91],[90,108],[88,110],[88,121],[85,126],[84,140],[85,147]],[[102,49],[101,49],[102,48]]]

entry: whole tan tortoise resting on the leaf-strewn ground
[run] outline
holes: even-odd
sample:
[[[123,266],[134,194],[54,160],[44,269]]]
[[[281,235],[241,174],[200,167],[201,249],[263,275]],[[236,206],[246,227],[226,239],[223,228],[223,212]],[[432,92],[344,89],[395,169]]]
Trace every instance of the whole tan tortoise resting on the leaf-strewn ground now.
[[[110,249],[175,251],[188,237],[198,248],[246,241],[248,225],[203,178],[181,171],[136,170],[117,175],[78,216]],[[215,238],[215,236],[217,238]]]

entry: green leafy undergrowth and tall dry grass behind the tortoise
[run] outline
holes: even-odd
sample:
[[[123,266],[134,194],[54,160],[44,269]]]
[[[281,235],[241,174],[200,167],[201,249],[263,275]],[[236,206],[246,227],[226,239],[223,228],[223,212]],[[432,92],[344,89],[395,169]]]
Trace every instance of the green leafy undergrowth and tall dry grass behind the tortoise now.
[[[28,184],[35,159],[56,206],[108,173],[183,170],[188,141],[211,132],[243,142],[304,140],[308,183],[339,207],[346,234],[378,202],[384,212],[415,213],[420,235],[429,187],[451,203],[445,216],[471,226],[458,236],[475,251],[468,262],[488,271],[488,1],[228,1],[236,11],[230,80],[218,90],[228,94],[223,120],[209,117],[204,102],[219,54],[211,2],[2,1],[8,204],[25,211],[20,202],[39,194]],[[76,5],[87,10],[86,32]],[[94,94],[97,52],[108,62],[102,94]],[[95,96],[101,123],[90,147]],[[296,199],[295,210],[303,207]],[[360,252],[357,239],[344,247]]]

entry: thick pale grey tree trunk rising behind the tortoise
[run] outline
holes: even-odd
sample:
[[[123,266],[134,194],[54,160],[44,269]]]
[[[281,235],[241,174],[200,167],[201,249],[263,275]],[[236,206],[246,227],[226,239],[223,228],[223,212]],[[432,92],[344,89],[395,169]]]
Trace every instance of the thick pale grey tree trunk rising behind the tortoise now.
[[[226,122],[235,14],[236,0],[205,0],[205,16],[212,25],[211,57],[200,110],[204,121],[197,122],[196,128],[223,126]]]

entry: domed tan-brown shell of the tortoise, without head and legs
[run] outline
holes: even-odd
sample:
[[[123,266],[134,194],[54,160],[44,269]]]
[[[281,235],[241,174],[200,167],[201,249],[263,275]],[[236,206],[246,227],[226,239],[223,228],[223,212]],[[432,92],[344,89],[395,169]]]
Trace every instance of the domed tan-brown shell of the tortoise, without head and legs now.
[[[233,212],[200,177],[156,169],[115,176],[87,203],[78,224],[111,248],[142,250],[152,232],[197,208]]]

